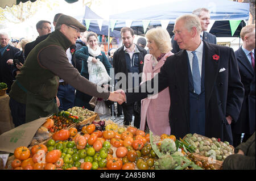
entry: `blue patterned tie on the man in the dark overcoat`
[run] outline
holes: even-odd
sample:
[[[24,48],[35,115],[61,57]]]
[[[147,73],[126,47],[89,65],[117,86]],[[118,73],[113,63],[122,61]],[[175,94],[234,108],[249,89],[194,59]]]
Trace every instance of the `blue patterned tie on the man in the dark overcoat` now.
[[[192,59],[192,77],[194,83],[194,90],[196,94],[200,94],[201,92],[201,77],[199,71],[198,58],[196,56],[196,51],[192,51],[193,59]]]

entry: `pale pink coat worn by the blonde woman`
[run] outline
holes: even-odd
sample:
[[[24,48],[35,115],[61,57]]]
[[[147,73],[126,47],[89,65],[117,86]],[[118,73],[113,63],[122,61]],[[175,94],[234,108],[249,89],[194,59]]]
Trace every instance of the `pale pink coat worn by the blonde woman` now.
[[[152,54],[147,54],[144,57],[143,75],[142,82],[146,82],[154,77],[154,73],[159,73],[160,68],[163,66],[166,58],[171,56],[173,53],[168,52],[163,58],[156,64],[155,68],[152,68]],[[148,75],[147,73],[151,73]],[[169,124],[169,110],[170,110],[170,93],[167,87],[163,91],[159,92],[155,96],[143,99],[141,101],[141,130],[146,128],[146,119],[148,128],[152,133],[161,134],[171,134],[171,127]]]

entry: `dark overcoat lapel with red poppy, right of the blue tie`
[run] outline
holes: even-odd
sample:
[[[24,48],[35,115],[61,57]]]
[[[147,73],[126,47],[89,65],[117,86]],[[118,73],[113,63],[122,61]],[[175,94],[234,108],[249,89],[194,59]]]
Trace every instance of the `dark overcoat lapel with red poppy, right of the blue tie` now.
[[[216,83],[218,75],[219,60],[214,60],[213,55],[217,54],[220,56],[220,51],[214,48],[212,45],[204,41],[204,58],[205,58],[205,111],[208,109],[210,96],[212,95],[213,87]]]

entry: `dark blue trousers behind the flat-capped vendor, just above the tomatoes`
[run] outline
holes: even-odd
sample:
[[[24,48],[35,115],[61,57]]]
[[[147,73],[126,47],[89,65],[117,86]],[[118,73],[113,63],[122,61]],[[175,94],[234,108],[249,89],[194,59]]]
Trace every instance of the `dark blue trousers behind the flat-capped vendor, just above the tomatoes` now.
[[[57,97],[60,100],[59,111],[66,111],[74,106],[75,102],[75,88],[71,85],[59,85]]]

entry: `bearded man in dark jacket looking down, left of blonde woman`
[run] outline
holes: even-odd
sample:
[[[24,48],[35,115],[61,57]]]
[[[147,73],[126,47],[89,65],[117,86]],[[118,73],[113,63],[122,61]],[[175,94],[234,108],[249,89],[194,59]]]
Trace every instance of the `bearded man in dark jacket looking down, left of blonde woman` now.
[[[114,53],[113,67],[115,75],[118,73],[123,73],[123,75],[125,75],[125,77],[122,77],[122,79],[125,78],[125,80],[121,79],[123,85],[120,87],[125,90],[128,87],[138,86],[135,85],[137,80],[139,81],[138,83],[141,83],[141,77],[136,74],[140,74],[143,71],[144,56],[147,54],[147,51],[133,43],[133,29],[127,27],[122,28],[121,37],[123,46]],[[117,76],[117,81],[120,81],[120,78]],[[123,123],[129,125],[134,115],[134,126],[139,128],[141,123],[141,101],[139,100],[138,102],[131,104],[122,104],[122,106],[123,115],[125,116]]]

